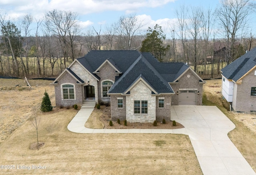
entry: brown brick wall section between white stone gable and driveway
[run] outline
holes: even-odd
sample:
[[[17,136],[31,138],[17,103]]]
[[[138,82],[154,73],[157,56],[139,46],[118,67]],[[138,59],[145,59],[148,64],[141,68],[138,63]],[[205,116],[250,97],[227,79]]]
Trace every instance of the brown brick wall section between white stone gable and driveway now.
[[[159,99],[164,100],[164,108],[159,108]],[[162,122],[163,119],[166,121],[171,120],[171,101],[170,95],[156,96],[156,121]]]

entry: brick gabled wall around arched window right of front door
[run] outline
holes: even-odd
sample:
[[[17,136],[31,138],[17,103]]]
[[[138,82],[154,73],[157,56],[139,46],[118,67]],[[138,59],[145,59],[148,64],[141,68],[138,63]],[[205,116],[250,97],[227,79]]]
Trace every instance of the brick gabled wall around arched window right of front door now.
[[[98,81],[98,101],[110,102],[110,97],[102,96],[102,82],[112,81],[114,84],[117,76],[116,71],[113,69],[113,67],[110,64],[105,63],[105,65],[101,67],[97,75],[100,77],[100,81]]]

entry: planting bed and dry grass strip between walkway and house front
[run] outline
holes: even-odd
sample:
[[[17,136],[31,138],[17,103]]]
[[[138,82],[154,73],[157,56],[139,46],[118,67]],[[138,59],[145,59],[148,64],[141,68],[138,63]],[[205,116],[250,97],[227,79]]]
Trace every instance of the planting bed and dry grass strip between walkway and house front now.
[[[153,126],[152,123],[130,123],[127,121],[127,126],[124,125],[124,121],[112,121],[113,126],[109,125],[111,120],[110,106],[100,106],[100,109],[95,108],[90,117],[88,118],[85,127],[94,129],[178,129],[184,128],[184,126],[176,122],[176,126],[172,125],[172,121],[166,121],[166,124],[157,122],[157,126]]]

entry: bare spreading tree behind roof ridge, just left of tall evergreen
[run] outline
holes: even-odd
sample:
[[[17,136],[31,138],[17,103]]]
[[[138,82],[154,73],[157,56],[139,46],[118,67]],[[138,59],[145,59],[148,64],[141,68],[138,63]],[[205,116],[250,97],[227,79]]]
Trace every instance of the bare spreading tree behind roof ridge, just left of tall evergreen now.
[[[136,14],[130,16],[121,16],[115,24],[116,32],[124,41],[124,49],[130,50],[132,48],[132,41],[136,35],[139,34],[140,28],[144,24],[138,20]]]

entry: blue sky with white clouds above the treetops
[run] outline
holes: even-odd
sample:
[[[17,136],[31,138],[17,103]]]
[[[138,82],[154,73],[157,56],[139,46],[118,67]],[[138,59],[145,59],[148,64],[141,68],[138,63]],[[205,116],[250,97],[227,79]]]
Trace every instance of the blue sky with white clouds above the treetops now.
[[[83,30],[100,29],[117,22],[120,16],[136,14],[145,23],[143,30],[159,24],[168,33],[168,25],[175,21],[175,10],[182,4],[188,7],[212,8],[219,0],[0,0],[0,13],[12,21],[22,20],[25,14],[42,19],[53,9],[78,13]],[[254,22],[255,24],[255,22]]]

